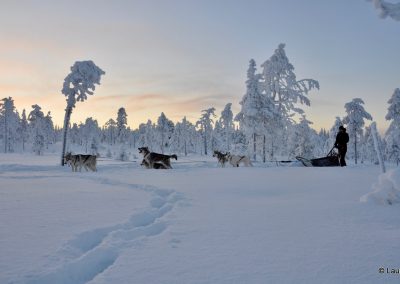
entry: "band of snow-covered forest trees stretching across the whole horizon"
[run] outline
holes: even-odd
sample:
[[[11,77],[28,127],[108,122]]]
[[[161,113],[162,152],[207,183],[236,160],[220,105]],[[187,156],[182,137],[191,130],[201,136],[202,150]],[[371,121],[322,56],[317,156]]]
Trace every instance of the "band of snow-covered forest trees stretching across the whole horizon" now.
[[[50,112],[46,115],[39,105],[29,114],[20,115],[11,97],[0,103],[0,145],[4,153],[32,151],[38,155],[61,142],[65,151],[101,154],[129,160],[137,147],[147,146],[160,153],[180,155],[209,155],[213,150],[246,154],[263,162],[295,156],[314,158],[325,156],[333,147],[340,125],[347,127],[350,136],[348,157],[358,161],[377,162],[371,127],[365,125],[372,116],[364,102],[354,98],[344,105],[346,116],[336,117],[329,130],[311,128],[301,105],[310,105],[308,93],[319,89],[313,79],[297,80],[294,67],[280,44],[273,55],[261,64],[257,72],[251,59],[247,70],[246,93],[235,116],[231,103],[217,117],[214,107],[202,110],[196,123],[185,117],[174,123],[161,113],[157,121],[148,120],[137,129],[127,126],[127,113],[121,107],[116,118],[103,126],[89,117],[85,122],[70,123],[77,101],[94,94],[95,84],[105,74],[92,61],[75,62],[65,78],[62,93],[67,108],[62,129],[54,127]],[[395,89],[388,101],[385,117],[390,126],[383,138],[378,137],[384,159],[400,161],[400,90]],[[234,123],[236,122],[236,123]],[[237,125],[237,126],[235,126]]]

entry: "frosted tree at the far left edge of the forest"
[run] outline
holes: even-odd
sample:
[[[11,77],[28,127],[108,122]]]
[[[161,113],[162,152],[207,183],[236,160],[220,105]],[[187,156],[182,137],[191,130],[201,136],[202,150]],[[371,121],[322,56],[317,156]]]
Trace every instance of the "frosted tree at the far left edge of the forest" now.
[[[16,130],[19,124],[19,116],[15,112],[14,100],[11,97],[1,100],[0,118],[3,126],[2,132],[4,153],[12,152],[16,140]]]

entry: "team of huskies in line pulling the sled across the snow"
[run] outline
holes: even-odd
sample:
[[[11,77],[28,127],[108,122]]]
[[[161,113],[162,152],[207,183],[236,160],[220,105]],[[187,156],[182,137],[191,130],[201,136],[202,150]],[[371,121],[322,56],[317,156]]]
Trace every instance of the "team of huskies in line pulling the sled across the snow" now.
[[[172,169],[171,158],[178,160],[177,155],[164,155],[159,153],[150,152],[148,147],[138,148],[139,153],[143,155],[141,166],[146,169]],[[231,153],[222,153],[214,151],[213,157],[218,159],[218,164],[221,167],[225,167],[225,164],[229,162],[233,167],[239,167],[240,164],[246,167],[253,166],[249,157],[232,155]],[[97,156],[95,155],[72,155],[71,152],[64,156],[64,163],[71,166],[73,172],[82,171],[82,167],[86,171],[91,170],[96,172]]]

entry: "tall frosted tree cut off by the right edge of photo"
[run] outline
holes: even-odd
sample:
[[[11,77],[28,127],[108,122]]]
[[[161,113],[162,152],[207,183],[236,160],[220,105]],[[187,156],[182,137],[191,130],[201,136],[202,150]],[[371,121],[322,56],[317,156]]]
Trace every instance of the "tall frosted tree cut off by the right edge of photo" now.
[[[388,101],[388,113],[386,120],[390,121],[388,130],[386,131],[387,154],[388,158],[395,161],[398,165],[400,162],[400,89],[396,88],[392,97]]]

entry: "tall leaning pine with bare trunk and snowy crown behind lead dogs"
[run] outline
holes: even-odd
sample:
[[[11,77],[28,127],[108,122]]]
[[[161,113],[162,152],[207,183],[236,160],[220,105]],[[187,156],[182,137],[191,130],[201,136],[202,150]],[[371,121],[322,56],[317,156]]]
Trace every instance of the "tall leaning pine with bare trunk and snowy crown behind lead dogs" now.
[[[61,152],[61,165],[64,166],[64,156],[67,143],[69,122],[72,110],[77,101],[85,101],[88,95],[93,95],[96,84],[100,85],[101,75],[105,72],[97,67],[93,61],[76,61],[71,67],[71,73],[64,79],[61,93],[67,97],[65,109],[63,146]]]

